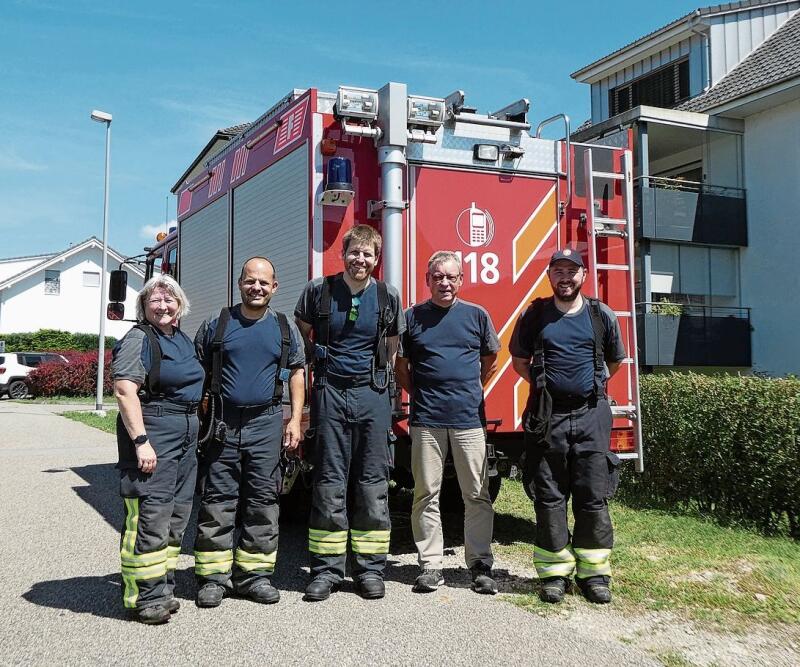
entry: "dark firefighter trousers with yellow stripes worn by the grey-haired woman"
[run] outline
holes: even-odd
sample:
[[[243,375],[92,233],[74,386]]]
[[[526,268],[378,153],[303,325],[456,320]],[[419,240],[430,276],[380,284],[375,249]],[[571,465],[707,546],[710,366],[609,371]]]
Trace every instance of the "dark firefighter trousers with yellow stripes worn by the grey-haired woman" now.
[[[173,594],[197,477],[196,410],[196,403],[142,404],[145,431],[157,458],[153,473],[120,470],[120,495],[125,503],[120,540],[122,601],[129,609],[162,603]],[[117,433],[127,438],[121,419]]]

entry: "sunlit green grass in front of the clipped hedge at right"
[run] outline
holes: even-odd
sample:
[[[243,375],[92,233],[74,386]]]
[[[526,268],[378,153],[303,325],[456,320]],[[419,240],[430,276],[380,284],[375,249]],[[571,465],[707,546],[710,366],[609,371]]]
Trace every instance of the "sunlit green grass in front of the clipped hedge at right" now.
[[[497,555],[532,568],[533,508],[519,482],[503,482],[495,510]],[[800,622],[800,543],[620,503],[611,511],[618,607],[682,612],[727,629]],[[503,539],[512,527],[513,539]],[[515,602],[548,606],[535,593]]]

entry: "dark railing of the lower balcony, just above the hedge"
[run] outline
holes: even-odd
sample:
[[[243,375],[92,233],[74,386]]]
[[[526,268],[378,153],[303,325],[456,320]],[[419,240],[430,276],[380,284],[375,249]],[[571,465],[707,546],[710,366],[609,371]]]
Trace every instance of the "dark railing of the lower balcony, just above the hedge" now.
[[[750,309],[640,303],[644,366],[750,366]]]

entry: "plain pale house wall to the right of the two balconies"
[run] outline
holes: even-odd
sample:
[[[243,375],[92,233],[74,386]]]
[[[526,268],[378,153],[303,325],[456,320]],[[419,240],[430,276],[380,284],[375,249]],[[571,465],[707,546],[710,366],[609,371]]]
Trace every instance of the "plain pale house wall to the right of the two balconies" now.
[[[796,305],[800,100],[745,119],[748,247],[742,302],[752,306],[753,368],[800,374]]]

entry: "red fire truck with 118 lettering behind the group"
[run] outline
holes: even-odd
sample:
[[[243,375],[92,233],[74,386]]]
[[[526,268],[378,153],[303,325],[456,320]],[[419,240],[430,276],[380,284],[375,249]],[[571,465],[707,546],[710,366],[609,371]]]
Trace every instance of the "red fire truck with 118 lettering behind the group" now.
[[[405,84],[293,90],[173,189],[177,230],[148,257],[192,302],[181,327],[239,301],[236,281],[254,255],[275,264],[271,305],[291,314],[309,279],[342,270],[341,238],[354,224],[383,235],[378,277],[406,307],[428,298],[436,250],[461,256],[460,295],[490,313],[502,348],[485,386],[492,495],[523,455],[528,385],[512,369],[520,314],[549,296],[550,255],[577,247],[584,292],[616,313],[628,357],[610,381],[611,448],[643,468],[634,321],[632,157],[627,146],[576,144],[569,118],[533,130],[527,99],[478,113],[462,91],[436,98]],[[543,138],[555,125],[563,138]],[[413,484],[398,401],[395,479]]]

